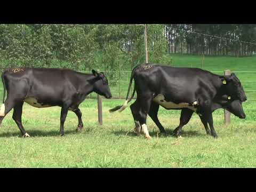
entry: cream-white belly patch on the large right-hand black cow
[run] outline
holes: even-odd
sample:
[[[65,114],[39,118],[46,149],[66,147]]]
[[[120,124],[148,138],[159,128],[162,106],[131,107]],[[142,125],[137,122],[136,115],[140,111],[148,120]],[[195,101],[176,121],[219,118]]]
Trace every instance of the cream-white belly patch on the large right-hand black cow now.
[[[162,94],[156,95],[156,97],[153,99],[153,101],[158,103],[159,105],[161,105],[162,107],[164,107],[166,109],[188,108],[188,109],[196,111],[196,108],[193,106],[189,106],[189,103],[182,102],[182,103],[176,104],[171,101],[167,102],[164,98],[164,95],[162,95]],[[197,101],[195,101],[193,103],[193,105],[194,106],[197,105]]]

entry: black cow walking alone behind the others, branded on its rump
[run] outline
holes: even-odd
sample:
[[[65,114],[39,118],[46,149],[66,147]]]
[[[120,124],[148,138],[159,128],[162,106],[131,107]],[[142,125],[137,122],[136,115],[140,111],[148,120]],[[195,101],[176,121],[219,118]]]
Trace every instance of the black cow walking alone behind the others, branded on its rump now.
[[[60,106],[60,134],[64,134],[63,124],[68,110],[78,117],[77,131],[83,128],[82,113],[78,108],[86,95],[96,92],[111,98],[107,77],[92,70],[92,74],[78,73],[70,69],[11,68],[2,74],[4,85],[3,104],[0,109],[0,124],[4,116],[13,108],[15,123],[23,137],[29,137],[21,123],[23,102],[42,108]],[[5,91],[7,98],[5,99]]]

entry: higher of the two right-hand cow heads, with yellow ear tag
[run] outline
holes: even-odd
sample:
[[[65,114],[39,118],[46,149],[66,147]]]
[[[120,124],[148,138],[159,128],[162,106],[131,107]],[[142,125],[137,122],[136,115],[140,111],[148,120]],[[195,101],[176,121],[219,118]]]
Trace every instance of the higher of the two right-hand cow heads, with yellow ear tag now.
[[[247,100],[243,86],[234,73],[232,73],[230,76],[220,76],[220,79],[223,85],[225,85],[225,94],[228,94],[234,98],[234,100],[237,99],[241,102]]]

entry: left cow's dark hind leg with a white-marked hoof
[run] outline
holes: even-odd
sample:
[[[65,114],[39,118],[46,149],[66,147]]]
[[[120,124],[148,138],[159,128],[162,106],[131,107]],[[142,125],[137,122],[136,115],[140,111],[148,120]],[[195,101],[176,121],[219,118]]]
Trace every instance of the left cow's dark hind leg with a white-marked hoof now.
[[[17,105],[14,106],[12,118],[15,121],[15,123],[17,124],[17,126],[19,127],[20,132],[23,135],[23,137],[30,137],[29,134],[25,131],[25,129],[21,123],[23,103],[24,102],[21,101],[21,102],[17,103]]]

